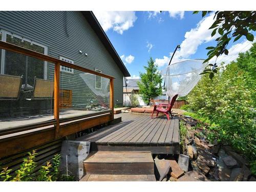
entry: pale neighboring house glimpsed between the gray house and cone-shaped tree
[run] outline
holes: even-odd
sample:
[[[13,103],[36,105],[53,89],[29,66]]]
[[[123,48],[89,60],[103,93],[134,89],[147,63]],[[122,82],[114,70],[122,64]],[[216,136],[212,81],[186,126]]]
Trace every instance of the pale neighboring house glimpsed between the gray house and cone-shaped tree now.
[[[123,105],[124,106],[146,105],[139,95],[139,86],[137,82],[141,82],[141,80],[126,79],[126,85],[125,85],[125,79],[123,79]],[[132,95],[134,95],[135,96],[134,98],[136,98],[136,101],[135,101],[136,104],[133,103],[134,99],[132,99]]]

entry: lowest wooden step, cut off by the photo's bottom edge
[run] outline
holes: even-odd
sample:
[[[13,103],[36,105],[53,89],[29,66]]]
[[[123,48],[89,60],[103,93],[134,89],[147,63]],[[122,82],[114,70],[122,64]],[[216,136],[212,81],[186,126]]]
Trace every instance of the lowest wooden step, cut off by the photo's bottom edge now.
[[[156,181],[155,175],[86,175],[80,181]]]

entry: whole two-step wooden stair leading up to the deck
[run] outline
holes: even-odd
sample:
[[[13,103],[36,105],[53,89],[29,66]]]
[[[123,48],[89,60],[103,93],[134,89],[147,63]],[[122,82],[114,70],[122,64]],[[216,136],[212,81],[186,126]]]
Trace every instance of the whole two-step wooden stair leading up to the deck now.
[[[83,169],[80,181],[156,181],[151,152],[92,152]]]

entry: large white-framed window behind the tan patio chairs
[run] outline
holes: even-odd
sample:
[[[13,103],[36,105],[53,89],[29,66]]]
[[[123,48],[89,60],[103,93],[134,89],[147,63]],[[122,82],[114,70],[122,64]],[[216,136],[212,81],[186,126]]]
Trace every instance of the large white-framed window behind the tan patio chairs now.
[[[13,45],[47,54],[47,47],[7,31],[2,31],[1,39]],[[35,77],[47,79],[46,61],[7,50],[2,50],[1,55],[1,73],[15,76],[23,75],[22,88],[32,88]]]

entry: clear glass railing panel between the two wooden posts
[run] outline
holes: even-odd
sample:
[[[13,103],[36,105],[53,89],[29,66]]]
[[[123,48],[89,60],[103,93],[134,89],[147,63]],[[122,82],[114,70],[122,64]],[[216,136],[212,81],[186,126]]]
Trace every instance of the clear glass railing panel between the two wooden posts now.
[[[60,66],[60,118],[110,109],[110,79]]]

